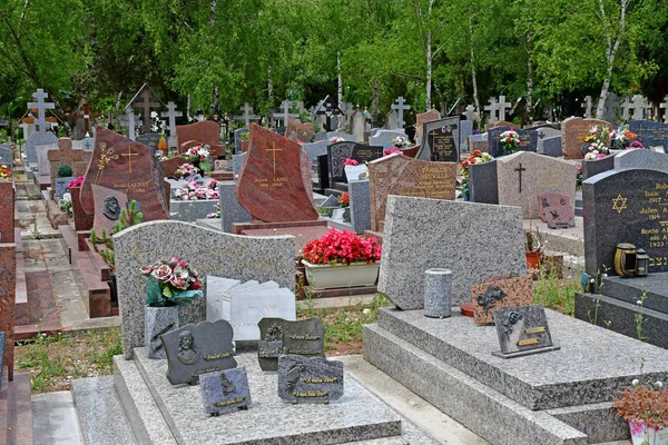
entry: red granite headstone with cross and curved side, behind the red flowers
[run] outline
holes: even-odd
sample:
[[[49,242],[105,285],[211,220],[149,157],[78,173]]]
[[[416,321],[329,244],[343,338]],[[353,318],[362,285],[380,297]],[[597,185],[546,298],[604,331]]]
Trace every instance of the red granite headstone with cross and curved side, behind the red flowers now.
[[[311,184],[311,159],[297,142],[256,123],[236,187],[239,204],[265,222],[317,219]]]

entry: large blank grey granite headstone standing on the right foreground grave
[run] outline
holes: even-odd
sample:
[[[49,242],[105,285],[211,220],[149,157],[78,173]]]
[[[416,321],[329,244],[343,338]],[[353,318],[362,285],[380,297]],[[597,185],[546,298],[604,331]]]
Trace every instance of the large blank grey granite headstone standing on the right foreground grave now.
[[[431,268],[452,270],[453,305],[471,300],[471,283],[525,275],[521,209],[390,196],[379,291],[401,309],[422,309],[423,274]]]

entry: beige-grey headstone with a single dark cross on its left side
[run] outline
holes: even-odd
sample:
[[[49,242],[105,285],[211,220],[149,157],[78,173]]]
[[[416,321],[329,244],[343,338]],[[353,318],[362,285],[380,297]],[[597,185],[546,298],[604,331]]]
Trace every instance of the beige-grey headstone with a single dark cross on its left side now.
[[[561,159],[518,151],[497,159],[499,204],[522,208],[527,219],[539,215],[538,195],[576,196],[578,167]]]

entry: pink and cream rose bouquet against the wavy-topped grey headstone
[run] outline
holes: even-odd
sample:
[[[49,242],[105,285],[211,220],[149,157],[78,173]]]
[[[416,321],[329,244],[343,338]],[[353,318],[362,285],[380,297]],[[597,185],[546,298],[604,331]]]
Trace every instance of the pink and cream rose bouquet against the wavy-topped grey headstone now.
[[[187,306],[204,296],[197,271],[176,255],[168,261],[141,266],[140,271],[148,277],[146,306]]]

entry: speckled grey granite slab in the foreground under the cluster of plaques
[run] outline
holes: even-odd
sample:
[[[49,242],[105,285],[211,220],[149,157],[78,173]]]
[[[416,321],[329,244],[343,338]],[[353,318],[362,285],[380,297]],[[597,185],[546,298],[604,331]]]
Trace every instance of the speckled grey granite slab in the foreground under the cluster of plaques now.
[[[199,387],[171,386],[167,382],[165,360],[147,358],[144,348],[137,348],[135,356],[160,414],[179,444],[342,444],[401,435],[401,417],[351,376],[345,376],[343,397],[327,407],[286,404],[276,390],[278,375],[262,372],[255,356],[242,354],[236,358],[246,369],[253,404],[247,411],[228,413],[222,419],[204,413]]]

